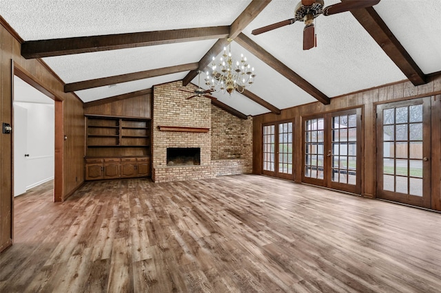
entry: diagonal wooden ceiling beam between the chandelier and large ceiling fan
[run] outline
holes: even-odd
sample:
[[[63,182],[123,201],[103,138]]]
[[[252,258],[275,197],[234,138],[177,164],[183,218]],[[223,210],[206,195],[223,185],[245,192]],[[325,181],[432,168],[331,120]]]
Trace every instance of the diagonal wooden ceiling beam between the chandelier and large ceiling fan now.
[[[234,41],[236,41],[239,45],[251,52],[261,61],[267,63],[267,65],[272,67],[278,73],[291,80],[292,83],[298,85],[298,87],[316,98],[316,100],[322,102],[322,104],[329,105],[329,103],[331,102],[331,99],[328,96],[316,89],[316,87],[308,83],[307,80],[296,74],[296,72],[291,70],[289,67],[287,67],[287,65],[283,64],[276,57],[269,54],[267,51],[265,51],[265,49],[263,49],[263,47],[260,47],[260,45],[252,41],[252,39],[249,39],[249,37],[245,36],[245,34],[239,34],[236,39],[234,39]]]

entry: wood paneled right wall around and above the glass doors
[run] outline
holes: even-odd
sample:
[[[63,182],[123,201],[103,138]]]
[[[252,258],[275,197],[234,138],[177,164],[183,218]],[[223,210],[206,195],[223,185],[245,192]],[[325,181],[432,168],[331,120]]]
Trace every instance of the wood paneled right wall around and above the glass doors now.
[[[301,182],[302,168],[302,117],[312,114],[362,108],[362,195],[376,197],[376,105],[410,98],[432,96],[432,208],[441,210],[441,74],[429,77],[425,85],[415,87],[408,81],[384,85],[355,94],[331,98],[330,105],[313,102],[308,105],[282,110],[280,115],[267,113],[254,117],[253,124],[253,173],[262,173],[262,124],[282,120],[294,120],[294,181]],[[295,97],[293,97],[295,98]]]

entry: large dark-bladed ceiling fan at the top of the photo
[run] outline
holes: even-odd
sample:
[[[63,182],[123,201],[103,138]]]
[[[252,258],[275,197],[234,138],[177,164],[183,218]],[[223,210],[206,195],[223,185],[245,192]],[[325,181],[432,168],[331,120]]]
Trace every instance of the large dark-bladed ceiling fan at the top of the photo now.
[[[309,50],[317,45],[314,19],[320,14],[327,17],[331,14],[371,7],[379,2],[380,0],[348,0],[323,8],[325,4],[324,0],[301,0],[296,6],[294,19],[287,19],[286,21],[280,21],[278,23],[264,26],[263,28],[258,28],[253,30],[252,34],[262,34],[263,32],[275,30],[276,28],[282,28],[285,25],[291,25],[296,21],[303,21],[305,22],[305,28],[303,29],[303,50]]]

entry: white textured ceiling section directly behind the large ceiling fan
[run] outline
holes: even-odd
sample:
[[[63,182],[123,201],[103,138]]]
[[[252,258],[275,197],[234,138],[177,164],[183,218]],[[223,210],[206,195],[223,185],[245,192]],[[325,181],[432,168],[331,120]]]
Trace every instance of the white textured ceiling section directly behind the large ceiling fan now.
[[[386,0],[387,1],[387,0]],[[326,1],[329,6],[340,1]],[[329,97],[406,78],[349,12],[316,19],[317,47],[302,50],[304,23],[258,36],[252,30],[294,17],[290,1],[271,1],[243,31]]]

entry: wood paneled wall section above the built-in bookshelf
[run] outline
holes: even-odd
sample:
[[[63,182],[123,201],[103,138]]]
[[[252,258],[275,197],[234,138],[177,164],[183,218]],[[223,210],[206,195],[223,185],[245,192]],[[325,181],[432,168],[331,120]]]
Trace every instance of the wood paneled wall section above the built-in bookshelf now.
[[[87,107],[85,114],[152,118],[152,94]]]

